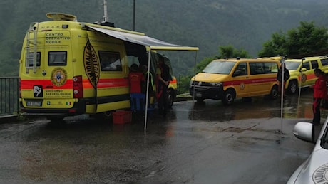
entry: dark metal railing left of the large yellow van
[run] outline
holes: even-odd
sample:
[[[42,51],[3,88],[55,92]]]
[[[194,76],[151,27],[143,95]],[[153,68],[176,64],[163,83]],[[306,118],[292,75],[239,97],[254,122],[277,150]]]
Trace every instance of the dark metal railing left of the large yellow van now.
[[[0,77],[0,116],[19,114],[19,77]]]

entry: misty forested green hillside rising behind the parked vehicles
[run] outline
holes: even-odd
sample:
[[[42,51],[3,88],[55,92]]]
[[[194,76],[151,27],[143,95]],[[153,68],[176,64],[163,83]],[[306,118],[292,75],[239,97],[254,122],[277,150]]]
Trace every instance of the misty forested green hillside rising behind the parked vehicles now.
[[[133,0],[107,0],[116,27],[133,29]],[[328,26],[324,0],[135,0],[135,31],[170,43],[198,46],[197,62],[215,56],[219,46],[243,48],[256,57],[272,33],[314,21]],[[0,1],[0,76],[18,75],[21,44],[29,24],[47,12],[73,14],[81,22],[102,21],[103,0]],[[193,70],[195,53],[166,52],[175,75]]]

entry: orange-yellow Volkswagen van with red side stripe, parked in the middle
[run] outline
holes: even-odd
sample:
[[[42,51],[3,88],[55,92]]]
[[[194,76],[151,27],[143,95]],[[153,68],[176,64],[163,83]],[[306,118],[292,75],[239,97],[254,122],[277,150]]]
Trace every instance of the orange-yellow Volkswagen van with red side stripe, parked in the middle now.
[[[195,100],[222,100],[231,105],[235,98],[270,95],[277,98],[280,61],[271,58],[217,59],[190,80]]]

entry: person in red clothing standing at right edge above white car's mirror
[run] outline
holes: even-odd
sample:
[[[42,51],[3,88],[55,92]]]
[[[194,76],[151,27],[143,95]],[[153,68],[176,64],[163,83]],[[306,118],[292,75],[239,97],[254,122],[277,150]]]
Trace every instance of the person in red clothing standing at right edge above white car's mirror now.
[[[326,86],[326,78],[322,74],[322,70],[319,68],[314,70],[314,75],[318,78],[313,88],[313,125],[319,125],[320,124],[320,103],[321,101],[327,96],[327,86]]]

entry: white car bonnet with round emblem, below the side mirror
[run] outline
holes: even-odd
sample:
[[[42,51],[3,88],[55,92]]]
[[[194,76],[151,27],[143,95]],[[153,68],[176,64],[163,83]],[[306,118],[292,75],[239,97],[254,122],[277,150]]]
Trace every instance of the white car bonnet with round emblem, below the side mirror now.
[[[328,150],[314,148],[311,156],[294,172],[289,184],[327,184]]]

